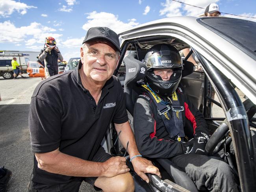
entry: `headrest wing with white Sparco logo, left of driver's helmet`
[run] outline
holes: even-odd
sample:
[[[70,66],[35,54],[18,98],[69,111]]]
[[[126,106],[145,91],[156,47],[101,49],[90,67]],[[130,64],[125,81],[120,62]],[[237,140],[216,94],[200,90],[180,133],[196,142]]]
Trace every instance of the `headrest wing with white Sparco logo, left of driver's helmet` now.
[[[141,61],[135,59],[137,53],[133,52],[124,58],[126,66],[126,77],[124,87],[129,86],[130,83],[136,84],[138,80],[144,79],[147,73],[147,66]]]

